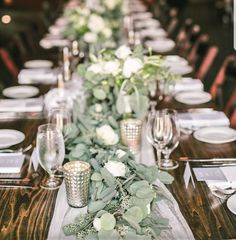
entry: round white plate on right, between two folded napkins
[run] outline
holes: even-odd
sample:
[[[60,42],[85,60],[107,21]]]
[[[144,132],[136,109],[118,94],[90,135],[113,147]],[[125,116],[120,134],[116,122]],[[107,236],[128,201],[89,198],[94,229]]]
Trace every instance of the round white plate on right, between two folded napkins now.
[[[202,104],[209,102],[211,95],[203,91],[180,92],[175,95],[175,100],[188,105]]]

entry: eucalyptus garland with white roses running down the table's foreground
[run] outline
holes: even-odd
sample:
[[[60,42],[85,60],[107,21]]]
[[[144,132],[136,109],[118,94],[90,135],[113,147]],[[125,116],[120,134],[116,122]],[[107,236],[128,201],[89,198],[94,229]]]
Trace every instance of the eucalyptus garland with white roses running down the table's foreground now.
[[[86,81],[87,108],[81,113],[75,104],[77,123],[67,139],[69,160],[92,166],[88,212],[65,225],[64,233],[78,239],[157,239],[168,219],[150,210],[160,200],[153,183],[173,178],[135,161],[120,143],[118,122],[124,114],[144,117],[148,89],[163,75],[162,59],[126,46],[91,59],[78,67]]]

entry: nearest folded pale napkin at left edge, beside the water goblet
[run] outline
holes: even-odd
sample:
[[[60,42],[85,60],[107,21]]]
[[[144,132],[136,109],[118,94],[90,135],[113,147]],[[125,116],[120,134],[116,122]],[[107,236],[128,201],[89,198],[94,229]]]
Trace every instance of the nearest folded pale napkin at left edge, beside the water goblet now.
[[[20,153],[0,153],[0,173],[19,173],[25,155]]]

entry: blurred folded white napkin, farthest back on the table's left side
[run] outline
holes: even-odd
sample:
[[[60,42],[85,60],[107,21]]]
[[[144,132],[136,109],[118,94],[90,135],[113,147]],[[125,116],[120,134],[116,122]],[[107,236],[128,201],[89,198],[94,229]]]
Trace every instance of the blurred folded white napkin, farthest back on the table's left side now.
[[[22,69],[18,75],[19,84],[53,84],[57,76],[52,69]]]

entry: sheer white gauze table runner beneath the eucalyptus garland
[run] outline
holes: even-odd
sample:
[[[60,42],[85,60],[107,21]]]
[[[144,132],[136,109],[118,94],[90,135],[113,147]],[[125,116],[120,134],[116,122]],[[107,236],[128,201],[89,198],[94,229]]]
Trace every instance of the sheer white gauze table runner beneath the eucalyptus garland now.
[[[140,160],[141,162],[146,165],[154,165],[155,164],[155,155],[153,152],[152,146],[147,142],[145,137],[145,126],[143,127],[143,138],[142,138],[142,150]],[[165,200],[161,200],[157,202],[156,206],[154,207],[153,211],[157,214],[161,215],[162,217],[169,219],[169,228],[166,230],[162,230],[159,239],[165,240],[189,240],[194,239],[193,233],[188,226],[185,218],[183,217],[178,203],[176,202],[173,195],[170,191],[165,187],[163,183],[159,180],[155,182],[158,186],[162,194],[166,197]],[[74,240],[76,239],[75,236],[65,237],[62,232],[62,226],[65,223],[73,222],[74,218],[80,214],[86,212],[86,208],[83,209],[76,209],[70,208],[67,204],[66,200],[66,190],[65,185],[62,184],[58,191],[56,205],[54,209],[54,214],[52,217],[51,225],[48,232],[48,240]],[[68,222],[68,217],[70,221]]]

